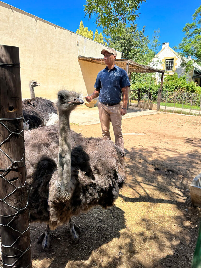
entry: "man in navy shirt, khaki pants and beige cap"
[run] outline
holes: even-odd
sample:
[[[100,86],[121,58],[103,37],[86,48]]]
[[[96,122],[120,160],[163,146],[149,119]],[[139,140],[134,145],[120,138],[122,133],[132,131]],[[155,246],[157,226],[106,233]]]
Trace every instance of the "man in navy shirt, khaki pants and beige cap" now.
[[[90,102],[99,96],[98,110],[102,135],[111,140],[110,122],[112,122],[115,144],[124,150],[121,116],[126,114],[128,86],[131,84],[126,71],[115,64],[116,50],[112,48],[103,49],[101,54],[104,55],[104,62],[107,66],[97,75],[94,93],[85,99]],[[122,107],[120,105],[121,94],[123,99]]]

